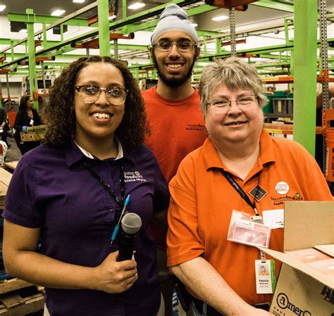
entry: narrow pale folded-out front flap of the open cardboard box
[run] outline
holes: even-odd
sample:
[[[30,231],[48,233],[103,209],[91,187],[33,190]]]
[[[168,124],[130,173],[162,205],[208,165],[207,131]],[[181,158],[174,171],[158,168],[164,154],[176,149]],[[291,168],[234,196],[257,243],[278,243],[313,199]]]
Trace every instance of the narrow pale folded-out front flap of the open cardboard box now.
[[[273,258],[276,258],[280,260],[281,262],[286,263],[287,265],[290,265],[291,267],[294,267],[300,272],[309,275],[310,277],[318,280],[322,284],[329,286],[331,289],[334,289],[334,277],[333,276],[328,276],[326,274],[318,272],[317,270],[314,270],[314,268],[309,267],[309,265],[307,265],[306,263],[302,263],[296,258],[293,258],[291,255],[288,255],[287,253],[281,253],[280,251],[274,251],[274,250],[263,248],[263,247],[257,247],[257,248],[259,248],[261,251],[264,251],[264,253],[271,255]]]

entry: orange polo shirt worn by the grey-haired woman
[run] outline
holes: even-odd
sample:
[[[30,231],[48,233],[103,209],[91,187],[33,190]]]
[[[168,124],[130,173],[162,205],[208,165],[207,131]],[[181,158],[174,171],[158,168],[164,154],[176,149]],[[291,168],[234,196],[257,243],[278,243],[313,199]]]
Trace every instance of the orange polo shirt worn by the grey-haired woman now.
[[[228,241],[233,210],[254,215],[254,210],[237,194],[220,169],[230,172],[251,201],[256,184],[267,194],[256,202],[259,214],[284,208],[285,201],[333,201],[316,160],[295,141],[271,137],[265,130],[260,137],[260,157],[242,181],[225,168],[214,144],[192,151],[180,164],[170,182],[168,209],[168,266],[178,265],[201,255],[247,303],[271,301],[270,294],[256,294],[254,260],[259,250]],[[278,182],[288,185],[278,193]],[[269,248],[283,251],[283,229],[272,229]],[[279,271],[276,262],[276,274]],[[205,277],[204,275],[202,277]]]

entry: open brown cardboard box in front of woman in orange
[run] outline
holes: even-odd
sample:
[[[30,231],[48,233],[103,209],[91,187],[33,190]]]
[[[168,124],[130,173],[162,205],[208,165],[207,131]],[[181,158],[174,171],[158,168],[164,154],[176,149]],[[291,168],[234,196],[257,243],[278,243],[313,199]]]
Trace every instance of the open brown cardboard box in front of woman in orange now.
[[[334,244],[334,201],[285,202],[284,215],[284,251]],[[333,274],[323,274],[288,253],[259,248],[283,263],[271,302],[273,315],[334,315]]]

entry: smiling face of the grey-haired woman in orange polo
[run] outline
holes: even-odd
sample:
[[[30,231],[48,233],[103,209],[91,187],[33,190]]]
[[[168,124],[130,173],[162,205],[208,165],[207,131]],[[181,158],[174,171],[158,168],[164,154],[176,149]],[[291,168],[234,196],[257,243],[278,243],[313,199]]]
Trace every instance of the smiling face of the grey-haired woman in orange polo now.
[[[230,90],[225,84],[218,85],[209,102],[216,99],[237,100],[254,94],[252,90]],[[259,142],[264,115],[257,101],[249,108],[241,110],[236,102],[227,111],[208,106],[205,125],[214,144],[254,144]]]

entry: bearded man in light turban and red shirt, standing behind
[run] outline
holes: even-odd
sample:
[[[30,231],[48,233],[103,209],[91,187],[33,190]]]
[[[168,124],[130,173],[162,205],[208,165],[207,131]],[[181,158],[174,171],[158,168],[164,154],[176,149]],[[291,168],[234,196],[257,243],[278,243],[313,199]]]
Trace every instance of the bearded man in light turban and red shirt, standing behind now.
[[[187,13],[176,4],[166,6],[151,36],[151,58],[158,72],[158,84],[142,91],[151,134],[145,143],[154,152],[166,181],[178,170],[180,161],[201,146],[206,138],[199,94],[192,87],[192,68],[199,58],[197,32]],[[149,234],[156,239],[159,279],[166,306],[172,315],[174,279],[166,267],[166,213],[159,227],[155,222]]]

